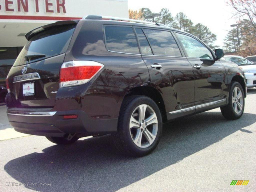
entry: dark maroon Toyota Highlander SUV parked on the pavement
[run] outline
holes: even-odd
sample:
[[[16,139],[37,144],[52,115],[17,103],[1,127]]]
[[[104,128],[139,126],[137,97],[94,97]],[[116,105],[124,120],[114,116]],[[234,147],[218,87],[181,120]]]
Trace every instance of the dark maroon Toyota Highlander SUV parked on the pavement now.
[[[188,33],[87,16],[26,38],[7,77],[7,114],[18,132],[56,144],[112,134],[120,151],[143,156],[165,122],[218,107],[227,119],[243,114],[242,70]]]

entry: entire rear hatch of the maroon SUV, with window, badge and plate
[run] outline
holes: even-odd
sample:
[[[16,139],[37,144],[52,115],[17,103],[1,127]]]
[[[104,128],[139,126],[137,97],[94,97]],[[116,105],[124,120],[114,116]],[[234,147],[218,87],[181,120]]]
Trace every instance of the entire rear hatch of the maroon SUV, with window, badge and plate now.
[[[35,29],[35,33],[26,36],[28,42],[8,75],[8,82],[13,82],[9,87],[17,108],[55,105],[60,68],[76,28],[74,23],[57,24]]]

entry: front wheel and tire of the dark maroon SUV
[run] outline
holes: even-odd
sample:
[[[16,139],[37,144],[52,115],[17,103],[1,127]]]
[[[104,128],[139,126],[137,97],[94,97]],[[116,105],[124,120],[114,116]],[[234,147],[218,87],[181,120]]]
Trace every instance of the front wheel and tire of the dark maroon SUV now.
[[[237,96],[234,94],[234,91],[237,91]],[[243,115],[244,111],[244,92],[240,83],[233,81],[231,82],[230,92],[229,92],[229,103],[226,106],[220,108],[222,115],[228,120],[239,119]],[[242,103],[242,106],[241,106]],[[239,105],[240,104],[240,105]],[[237,110],[235,110],[237,109]]]

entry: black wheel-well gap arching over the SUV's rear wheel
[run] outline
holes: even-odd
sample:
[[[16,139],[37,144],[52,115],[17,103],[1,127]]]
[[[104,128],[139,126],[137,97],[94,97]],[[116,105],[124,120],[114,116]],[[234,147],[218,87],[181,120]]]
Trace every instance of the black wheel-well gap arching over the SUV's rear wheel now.
[[[162,98],[162,95],[159,93],[157,89],[150,86],[132,88],[125,94],[122,102],[124,102],[126,97],[131,95],[144,95],[151,98],[157,104],[161,112],[163,122],[167,122],[164,100]]]

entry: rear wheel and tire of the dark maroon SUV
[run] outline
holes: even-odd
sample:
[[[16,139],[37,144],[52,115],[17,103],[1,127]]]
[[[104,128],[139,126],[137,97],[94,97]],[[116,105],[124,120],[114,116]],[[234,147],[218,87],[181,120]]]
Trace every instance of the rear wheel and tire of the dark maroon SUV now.
[[[162,115],[157,104],[144,95],[126,97],[119,114],[118,131],[112,134],[116,148],[129,156],[145,156],[156,148],[161,134]]]

